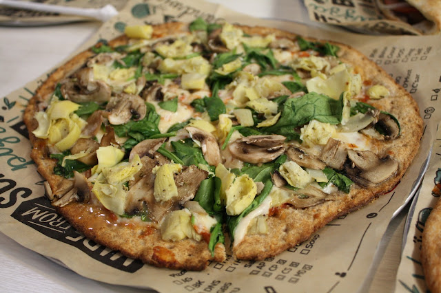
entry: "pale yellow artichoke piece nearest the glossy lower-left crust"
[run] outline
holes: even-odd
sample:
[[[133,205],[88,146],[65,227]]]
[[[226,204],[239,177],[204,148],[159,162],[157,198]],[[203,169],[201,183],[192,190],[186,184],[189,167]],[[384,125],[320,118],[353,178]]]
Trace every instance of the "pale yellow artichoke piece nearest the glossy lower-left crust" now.
[[[125,197],[127,196],[123,184],[95,182],[92,192],[107,210],[112,210],[117,215],[123,215]]]

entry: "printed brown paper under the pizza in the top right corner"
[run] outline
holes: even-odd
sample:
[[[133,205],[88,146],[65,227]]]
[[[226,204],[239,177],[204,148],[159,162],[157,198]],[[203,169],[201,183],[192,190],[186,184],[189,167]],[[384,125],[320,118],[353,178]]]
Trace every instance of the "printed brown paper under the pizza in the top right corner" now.
[[[309,19],[370,34],[423,34],[404,21],[387,19],[376,0],[304,0]]]

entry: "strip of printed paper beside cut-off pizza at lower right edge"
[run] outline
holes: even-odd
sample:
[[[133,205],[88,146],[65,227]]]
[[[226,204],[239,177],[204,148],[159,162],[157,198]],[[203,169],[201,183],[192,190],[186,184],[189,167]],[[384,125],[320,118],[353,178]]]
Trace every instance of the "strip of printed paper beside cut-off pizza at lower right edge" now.
[[[404,239],[404,250],[398,268],[396,289],[400,292],[427,292],[424,282],[424,273],[421,266],[421,241],[424,224],[429,217],[432,208],[440,199],[439,193],[433,191],[436,184],[441,182],[441,128],[438,125],[438,134],[433,149],[426,175],[421,189],[413,199],[412,207],[408,215],[407,224],[409,232]]]

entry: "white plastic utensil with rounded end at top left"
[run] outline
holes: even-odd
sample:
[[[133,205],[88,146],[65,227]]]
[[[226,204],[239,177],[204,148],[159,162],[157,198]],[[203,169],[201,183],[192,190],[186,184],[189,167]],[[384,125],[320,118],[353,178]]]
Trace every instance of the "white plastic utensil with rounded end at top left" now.
[[[35,3],[29,1],[0,0],[0,6],[9,6],[12,8],[23,8],[44,12],[56,12],[61,14],[79,15],[81,17],[91,17],[100,21],[108,21],[116,14],[118,10],[114,6],[107,4],[102,8],[76,8],[68,6],[57,6],[51,4]]]

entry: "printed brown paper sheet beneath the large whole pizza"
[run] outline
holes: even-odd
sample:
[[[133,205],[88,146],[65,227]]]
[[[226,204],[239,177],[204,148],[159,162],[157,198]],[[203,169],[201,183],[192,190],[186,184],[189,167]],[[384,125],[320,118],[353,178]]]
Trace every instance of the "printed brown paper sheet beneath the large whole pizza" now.
[[[148,11],[134,17],[134,8]],[[420,181],[440,120],[441,42],[433,36],[362,36],[318,30],[305,25],[254,19],[204,1],[133,0],[119,16],[103,25],[84,47],[98,39],[112,39],[124,25],[226,19],[248,25],[267,25],[320,39],[349,43],[369,56],[407,89],[420,105],[425,128],[418,153],[401,183],[390,193],[354,213],[340,217],[311,239],[265,261],[210,263],[203,272],[153,268],[123,257],[85,239],[57,215],[43,197],[42,178],[29,157],[30,144],[22,111],[34,89],[46,78],[9,94],[1,103],[0,119],[0,230],[21,245],[52,257],[65,266],[106,283],[150,287],[160,292],[355,292],[369,272],[384,230],[396,210],[410,200]],[[83,48],[84,48],[83,47]],[[438,109],[437,109],[438,107]]]

